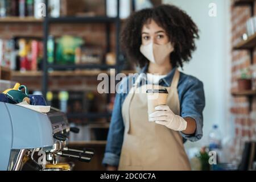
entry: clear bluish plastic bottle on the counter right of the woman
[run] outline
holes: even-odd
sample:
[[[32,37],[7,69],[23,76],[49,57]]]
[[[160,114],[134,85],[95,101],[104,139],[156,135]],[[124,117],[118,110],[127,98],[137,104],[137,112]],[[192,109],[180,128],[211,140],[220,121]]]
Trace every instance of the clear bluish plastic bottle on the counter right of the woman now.
[[[213,125],[209,133],[209,150],[221,150],[221,132],[218,125]]]

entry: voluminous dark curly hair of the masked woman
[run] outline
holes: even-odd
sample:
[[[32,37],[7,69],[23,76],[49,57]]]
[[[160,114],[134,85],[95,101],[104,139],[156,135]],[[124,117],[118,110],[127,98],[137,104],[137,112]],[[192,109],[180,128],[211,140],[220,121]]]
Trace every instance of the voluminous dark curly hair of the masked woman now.
[[[174,52],[170,55],[171,65],[182,68],[183,63],[191,59],[191,54],[196,49],[195,38],[199,39],[199,30],[185,11],[173,5],[160,5],[130,15],[121,31],[122,50],[140,67],[148,63],[139,48],[142,44],[142,27],[150,20],[154,20],[162,27],[174,44]]]

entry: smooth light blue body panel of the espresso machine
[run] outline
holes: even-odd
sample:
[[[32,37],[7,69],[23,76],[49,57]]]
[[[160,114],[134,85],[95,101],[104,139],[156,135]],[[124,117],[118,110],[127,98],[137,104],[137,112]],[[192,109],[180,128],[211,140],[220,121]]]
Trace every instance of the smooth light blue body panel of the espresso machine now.
[[[13,149],[52,146],[52,133],[47,114],[0,102],[0,170],[8,168]]]

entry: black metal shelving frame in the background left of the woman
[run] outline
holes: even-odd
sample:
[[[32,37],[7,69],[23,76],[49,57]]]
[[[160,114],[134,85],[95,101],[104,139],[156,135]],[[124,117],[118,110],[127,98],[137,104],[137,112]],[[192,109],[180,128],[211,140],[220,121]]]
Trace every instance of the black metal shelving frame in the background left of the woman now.
[[[48,7],[48,0],[46,0],[46,7]],[[105,1],[106,7],[106,1]],[[54,65],[48,64],[47,60],[47,40],[49,36],[49,26],[53,23],[103,23],[106,26],[106,52],[110,51],[110,24],[115,24],[115,55],[117,57],[115,65],[94,65],[94,64],[86,64],[86,65]],[[119,32],[120,32],[120,24],[121,19],[119,18],[119,0],[117,0],[117,17],[109,18],[108,16],[68,16],[68,17],[60,17],[60,18],[51,18],[48,16],[48,9],[46,9],[46,17],[43,21],[43,31],[44,31],[44,61],[43,61],[43,76],[42,76],[42,92],[43,96],[46,97],[46,93],[48,91],[48,78],[49,73],[48,69],[52,68],[55,70],[61,69],[101,69],[102,71],[106,71],[107,69],[114,68],[115,73],[121,72],[122,63],[119,59]],[[109,97],[109,96],[108,96]],[[109,98],[108,98],[109,100]],[[86,113],[86,114],[68,114],[68,117],[75,118],[109,118],[111,113]]]

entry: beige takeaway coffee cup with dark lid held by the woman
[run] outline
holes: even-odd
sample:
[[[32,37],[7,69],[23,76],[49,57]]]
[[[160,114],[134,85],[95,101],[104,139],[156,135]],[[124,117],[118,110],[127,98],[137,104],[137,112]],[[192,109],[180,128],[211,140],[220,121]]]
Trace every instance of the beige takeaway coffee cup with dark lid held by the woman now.
[[[168,91],[167,89],[148,89],[147,90],[147,113],[148,117],[154,113],[155,107],[166,105]]]

